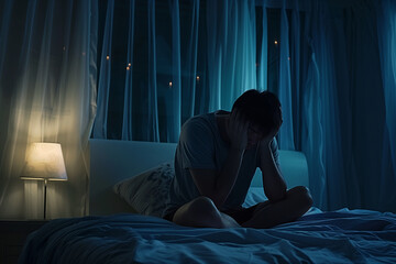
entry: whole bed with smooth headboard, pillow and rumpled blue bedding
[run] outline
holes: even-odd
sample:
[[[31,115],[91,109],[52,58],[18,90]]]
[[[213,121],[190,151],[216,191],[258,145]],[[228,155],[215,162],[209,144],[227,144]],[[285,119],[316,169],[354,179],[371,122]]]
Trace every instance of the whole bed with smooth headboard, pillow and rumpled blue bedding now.
[[[197,229],[158,218],[158,186],[172,177],[175,147],[91,140],[89,216],[43,226],[28,238],[20,263],[396,263],[392,212],[314,207],[267,230]],[[280,151],[279,163],[288,187],[308,186],[302,153]],[[261,185],[256,173],[246,206],[265,199]]]

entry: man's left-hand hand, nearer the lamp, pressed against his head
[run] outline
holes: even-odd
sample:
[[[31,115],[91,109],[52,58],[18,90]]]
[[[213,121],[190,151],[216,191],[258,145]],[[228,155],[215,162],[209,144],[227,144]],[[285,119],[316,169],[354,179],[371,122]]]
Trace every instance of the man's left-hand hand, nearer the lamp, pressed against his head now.
[[[231,141],[231,147],[244,151],[248,146],[249,121],[243,117],[241,111],[235,109],[231,112],[228,123],[228,136]]]

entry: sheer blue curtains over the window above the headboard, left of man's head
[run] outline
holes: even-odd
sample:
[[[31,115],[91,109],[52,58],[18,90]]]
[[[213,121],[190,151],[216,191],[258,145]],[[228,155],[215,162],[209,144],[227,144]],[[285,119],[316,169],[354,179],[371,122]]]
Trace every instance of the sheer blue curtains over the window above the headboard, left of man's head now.
[[[177,142],[188,118],[230,110],[256,88],[254,7],[239,0],[101,1],[92,136]]]

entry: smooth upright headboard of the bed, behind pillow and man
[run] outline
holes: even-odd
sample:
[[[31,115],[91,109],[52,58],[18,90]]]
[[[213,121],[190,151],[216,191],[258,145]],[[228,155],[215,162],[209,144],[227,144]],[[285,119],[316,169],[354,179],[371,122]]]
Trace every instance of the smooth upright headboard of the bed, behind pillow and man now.
[[[174,160],[176,143],[91,139],[89,148],[89,215],[102,216],[133,212],[133,209],[113,193],[113,185]],[[288,188],[297,185],[308,187],[308,167],[302,153],[279,151],[279,163]],[[254,175],[252,186],[262,186],[258,172]]]

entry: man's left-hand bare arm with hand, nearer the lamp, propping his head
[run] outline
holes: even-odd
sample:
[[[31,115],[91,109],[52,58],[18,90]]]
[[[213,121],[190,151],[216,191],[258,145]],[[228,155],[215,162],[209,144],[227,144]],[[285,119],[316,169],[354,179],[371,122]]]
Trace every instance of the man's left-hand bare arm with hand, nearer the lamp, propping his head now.
[[[217,208],[221,208],[233,188],[248,144],[249,122],[238,111],[233,111],[229,123],[230,148],[220,172],[189,168],[194,183],[202,196],[209,197]]]

